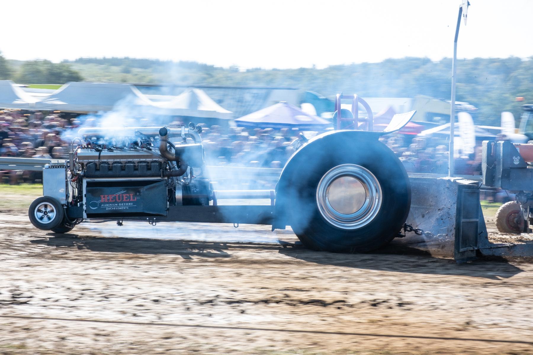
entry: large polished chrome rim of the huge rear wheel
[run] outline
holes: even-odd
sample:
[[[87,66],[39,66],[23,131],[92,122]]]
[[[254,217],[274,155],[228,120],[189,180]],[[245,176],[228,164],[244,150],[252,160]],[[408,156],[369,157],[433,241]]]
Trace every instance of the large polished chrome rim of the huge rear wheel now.
[[[358,229],[372,221],[382,203],[379,181],[368,169],[342,164],[330,169],[317,187],[321,216],[341,229]]]

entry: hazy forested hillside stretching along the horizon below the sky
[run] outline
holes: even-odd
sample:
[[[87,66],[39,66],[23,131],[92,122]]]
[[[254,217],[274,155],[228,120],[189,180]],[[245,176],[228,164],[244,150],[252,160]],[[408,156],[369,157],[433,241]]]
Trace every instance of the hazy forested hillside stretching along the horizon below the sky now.
[[[520,115],[522,103],[533,103],[533,57],[476,58],[457,65],[457,101],[479,108],[478,123],[497,125],[502,111]],[[331,65],[327,68],[221,68],[197,62],[151,59],[79,58],[52,63],[26,61],[18,68],[0,54],[0,79],[20,84],[64,84],[103,80],[160,84],[289,86],[325,96],[357,93],[362,97],[427,95],[449,100],[451,59],[406,57],[379,63]],[[516,101],[524,97],[524,101]]]

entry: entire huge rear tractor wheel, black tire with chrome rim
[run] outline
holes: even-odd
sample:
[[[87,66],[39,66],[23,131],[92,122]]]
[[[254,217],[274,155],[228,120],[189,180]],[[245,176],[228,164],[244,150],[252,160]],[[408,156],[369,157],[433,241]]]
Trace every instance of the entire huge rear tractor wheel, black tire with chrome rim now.
[[[398,235],[410,208],[410,184],[395,154],[376,140],[333,144],[302,168],[289,221],[307,247],[368,252]],[[315,152],[317,153],[317,152]]]

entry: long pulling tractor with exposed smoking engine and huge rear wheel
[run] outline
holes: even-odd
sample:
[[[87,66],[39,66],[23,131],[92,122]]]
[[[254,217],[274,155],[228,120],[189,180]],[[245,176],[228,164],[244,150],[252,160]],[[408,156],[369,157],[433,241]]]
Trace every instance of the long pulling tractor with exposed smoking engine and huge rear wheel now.
[[[341,110],[350,99],[351,112]],[[399,235],[411,185],[400,160],[378,138],[401,129],[415,111],[397,114],[373,131],[373,114],[357,95],[337,95],[336,127],[301,136],[275,191],[217,191],[204,161],[201,128],[85,128],[69,160],[43,169],[43,195],[29,219],[43,230],[68,233],[82,221],[143,220],[266,224],[292,227],[316,250],[366,252]],[[359,117],[359,105],[366,117]],[[271,205],[220,205],[223,198],[267,198]]]

